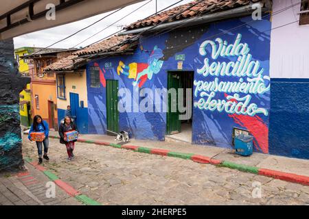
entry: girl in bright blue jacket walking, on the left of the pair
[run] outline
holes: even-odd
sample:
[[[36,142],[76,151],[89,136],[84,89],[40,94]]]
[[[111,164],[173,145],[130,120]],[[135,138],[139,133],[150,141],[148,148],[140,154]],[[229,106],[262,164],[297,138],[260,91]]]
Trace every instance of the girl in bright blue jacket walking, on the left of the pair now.
[[[30,134],[32,132],[44,132],[45,134],[45,138],[43,140],[43,142],[36,142],[36,146],[38,148],[38,164],[42,164],[43,159],[42,159],[42,144],[44,145],[44,155],[43,158],[46,159],[47,161],[49,160],[49,157],[47,156],[47,152],[48,152],[48,145],[49,145],[49,140],[48,140],[48,134],[49,134],[49,127],[48,127],[48,123],[42,119],[41,116],[36,115],[33,118],[33,124],[30,128],[29,131],[29,135],[28,138],[30,141],[31,140],[31,136]]]

